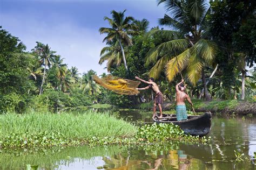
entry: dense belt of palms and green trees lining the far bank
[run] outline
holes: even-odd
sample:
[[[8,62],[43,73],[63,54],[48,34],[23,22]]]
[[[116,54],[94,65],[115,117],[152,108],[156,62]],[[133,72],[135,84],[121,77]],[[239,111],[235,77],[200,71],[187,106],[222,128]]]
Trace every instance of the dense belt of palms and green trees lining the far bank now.
[[[153,76],[166,101],[174,101],[180,73],[192,98],[255,101],[255,73],[246,70],[246,65],[252,67],[256,60],[255,1],[158,3],[166,9],[159,24],[170,30],[159,26],[150,30],[146,19],[125,16],[125,10],[113,10],[111,18],[104,18],[110,26],[99,29],[106,35],[99,63],[107,61],[109,74],[130,80],[134,76],[145,80]],[[125,96],[99,87],[92,80],[95,71],[79,75],[78,69],[69,68],[63,56],[48,44],[36,42],[32,51],[25,50],[21,40],[1,27],[1,112],[85,107],[93,103],[130,108],[152,101],[151,90]],[[214,68],[217,71],[210,79]]]

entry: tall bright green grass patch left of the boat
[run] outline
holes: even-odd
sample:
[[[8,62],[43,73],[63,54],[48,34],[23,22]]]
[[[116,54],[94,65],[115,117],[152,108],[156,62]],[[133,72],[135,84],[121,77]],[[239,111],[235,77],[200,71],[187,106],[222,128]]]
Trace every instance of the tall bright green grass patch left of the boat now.
[[[12,134],[61,133],[66,139],[91,137],[130,137],[136,127],[107,113],[84,111],[61,113],[31,111],[25,114],[8,112],[0,115],[0,140]]]

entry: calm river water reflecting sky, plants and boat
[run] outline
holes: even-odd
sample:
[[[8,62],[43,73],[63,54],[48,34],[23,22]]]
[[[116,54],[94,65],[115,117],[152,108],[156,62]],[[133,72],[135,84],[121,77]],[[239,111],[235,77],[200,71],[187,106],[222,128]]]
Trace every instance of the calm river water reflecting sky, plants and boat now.
[[[132,122],[150,122],[152,116],[136,110],[122,110],[119,114]],[[144,148],[82,146],[44,151],[2,151],[0,169],[26,169],[26,165],[39,165],[39,169],[256,169],[256,118],[213,117],[208,136],[212,137],[210,145],[184,145],[170,141]],[[244,153],[244,161],[235,161],[234,150]]]

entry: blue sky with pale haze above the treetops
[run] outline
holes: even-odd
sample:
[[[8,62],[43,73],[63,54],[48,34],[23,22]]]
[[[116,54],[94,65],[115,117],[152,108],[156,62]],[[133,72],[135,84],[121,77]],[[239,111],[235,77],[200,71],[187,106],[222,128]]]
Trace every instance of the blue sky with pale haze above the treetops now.
[[[69,68],[76,66],[80,73],[93,69],[100,75],[106,69],[105,63],[98,65],[105,46],[99,27],[108,26],[103,17],[111,17],[111,10],[124,9],[126,16],[148,19],[150,27],[165,13],[156,0],[0,0],[0,25],[19,37],[27,51],[40,41],[62,55]]]

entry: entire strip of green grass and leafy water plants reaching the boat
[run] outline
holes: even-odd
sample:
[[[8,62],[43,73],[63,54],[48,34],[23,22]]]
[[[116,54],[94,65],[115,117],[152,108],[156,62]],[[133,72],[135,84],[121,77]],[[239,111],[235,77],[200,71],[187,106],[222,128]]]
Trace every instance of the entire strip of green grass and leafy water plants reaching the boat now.
[[[176,125],[138,127],[102,112],[53,114],[31,111],[0,115],[0,147],[3,148],[144,145],[181,139],[186,143],[208,140],[187,136]]]

